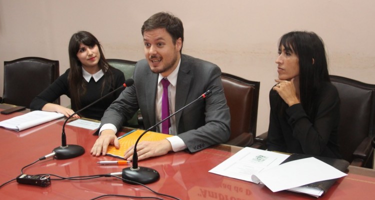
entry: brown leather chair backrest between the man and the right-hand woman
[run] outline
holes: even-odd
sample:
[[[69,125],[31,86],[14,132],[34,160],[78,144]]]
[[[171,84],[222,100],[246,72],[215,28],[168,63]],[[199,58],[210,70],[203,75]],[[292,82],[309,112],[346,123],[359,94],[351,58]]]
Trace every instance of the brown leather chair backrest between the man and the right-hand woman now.
[[[221,81],[230,111],[230,138],[243,132],[256,134],[260,82],[221,73]],[[248,145],[248,144],[247,144]]]

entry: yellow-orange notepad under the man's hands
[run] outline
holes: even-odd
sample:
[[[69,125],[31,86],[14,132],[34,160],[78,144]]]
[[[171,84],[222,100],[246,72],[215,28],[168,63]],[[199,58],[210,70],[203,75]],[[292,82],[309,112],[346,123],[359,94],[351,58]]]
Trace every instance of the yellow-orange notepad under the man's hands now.
[[[118,141],[120,143],[120,148],[116,149],[113,145],[109,145],[107,149],[106,155],[110,155],[113,157],[118,157],[123,159],[123,154],[125,151],[133,144],[135,144],[136,140],[138,139],[139,135],[142,134],[144,130],[132,130],[127,132],[118,137]],[[140,139],[140,141],[157,141],[161,139],[165,139],[166,137],[170,137],[172,135],[163,134],[159,132],[146,132]]]

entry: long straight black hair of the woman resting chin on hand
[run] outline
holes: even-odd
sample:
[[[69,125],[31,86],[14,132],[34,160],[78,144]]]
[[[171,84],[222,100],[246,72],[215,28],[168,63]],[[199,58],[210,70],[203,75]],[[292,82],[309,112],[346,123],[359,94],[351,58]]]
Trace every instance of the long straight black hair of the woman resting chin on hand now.
[[[314,32],[291,31],[281,36],[278,51],[281,46],[291,49],[298,57],[300,102],[314,121],[316,94],[324,82],[330,82],[323,40]]]

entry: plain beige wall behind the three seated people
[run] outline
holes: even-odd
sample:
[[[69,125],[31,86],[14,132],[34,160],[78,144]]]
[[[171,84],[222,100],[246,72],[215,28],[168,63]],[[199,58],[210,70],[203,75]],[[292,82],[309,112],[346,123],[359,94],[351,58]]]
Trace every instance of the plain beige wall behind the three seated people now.
[[[0,94],[3,61],[55,59],[61,74],[68,68],[68,40],[78,30],[92,32],[106,58],[143,58],[140,27],[158,11],[181,18],[183,53],[260,81],[258,134],[268,127],[277,40],[285,32],[315,31],[325,42],[331,74],[375,84],[372,0],[0,0]],[[62,104],[69,104],[66,97]]]

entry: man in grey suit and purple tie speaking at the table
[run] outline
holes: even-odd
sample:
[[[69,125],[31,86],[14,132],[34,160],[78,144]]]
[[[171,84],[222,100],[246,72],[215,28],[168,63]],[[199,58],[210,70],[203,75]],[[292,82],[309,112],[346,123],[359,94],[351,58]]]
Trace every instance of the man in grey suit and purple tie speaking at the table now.
[[[158,12],[144,21],[141,28],[145,59],[135,65],[134,84],[126,87],[104,112],[100,136],[91,154],[105,155],[107,146],[119,148],[115,135],[123,122],[140,108],[145,128],[163,118],[161,101],[162,79],[168,80],[169,113],[195,100],[208,89],[206,98],[187,106],[170,118],[167,125],[160,124],[152,131],[174,136],[160,141],[142,141],[137,145],[138,160],[187,149],[195,152],[210,145],[225,142],[230,135],[230,114],[221,83],[220,68],[210,62],[181,54],[183,26],[178,17]],[[164,129],[163,129],[164,131]],[[133,146],[124,158],[132,159]]]

